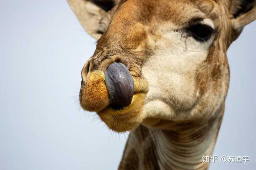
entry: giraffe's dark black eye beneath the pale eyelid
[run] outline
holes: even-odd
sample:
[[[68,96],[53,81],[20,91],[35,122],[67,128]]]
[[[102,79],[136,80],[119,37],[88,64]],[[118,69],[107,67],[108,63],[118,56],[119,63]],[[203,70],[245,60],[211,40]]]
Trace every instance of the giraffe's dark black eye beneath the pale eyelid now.
[[[207,41],[210,39],[214,29],[206,24],[195,24],[187,29],[187,33],[197,41]]]

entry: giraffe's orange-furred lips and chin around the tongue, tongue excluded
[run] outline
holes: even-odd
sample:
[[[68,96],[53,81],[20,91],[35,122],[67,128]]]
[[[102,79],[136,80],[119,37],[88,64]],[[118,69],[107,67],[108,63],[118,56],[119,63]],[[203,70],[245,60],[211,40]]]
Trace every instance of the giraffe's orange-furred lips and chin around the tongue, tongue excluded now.
[[[147,83],[142,85],[143,80],[133,79],[135,90],[131,103],[121,109],[115,109],[111,107],[104,73],[99,70],[89,73],[86,81],[81,83],[81,107],[87,111],[97,112],[108,128],[114,131],[124,132],[136,128],[144,119],[142,110],[148,86]]]

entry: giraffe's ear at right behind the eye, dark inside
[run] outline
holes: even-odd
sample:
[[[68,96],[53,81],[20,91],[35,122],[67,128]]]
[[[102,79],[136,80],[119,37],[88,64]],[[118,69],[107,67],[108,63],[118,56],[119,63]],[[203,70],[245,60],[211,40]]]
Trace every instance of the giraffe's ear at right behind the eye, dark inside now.
[[[231,12],[233,28],[241,32],[244,26],[256,19],[256,0],[233,0]]]

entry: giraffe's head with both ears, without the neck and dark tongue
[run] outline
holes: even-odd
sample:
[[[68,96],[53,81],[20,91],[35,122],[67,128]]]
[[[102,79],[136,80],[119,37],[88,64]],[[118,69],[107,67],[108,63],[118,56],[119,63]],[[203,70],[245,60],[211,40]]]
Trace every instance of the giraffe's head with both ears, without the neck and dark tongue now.
[[[114,131],[160,120],[210,119],[229,87],[226,51],[256,19],[254,0],[68,0],[98,39],[82,68],[80,104]],[[114,109],[104,81],[113,62],[134,80],[129,106]]]

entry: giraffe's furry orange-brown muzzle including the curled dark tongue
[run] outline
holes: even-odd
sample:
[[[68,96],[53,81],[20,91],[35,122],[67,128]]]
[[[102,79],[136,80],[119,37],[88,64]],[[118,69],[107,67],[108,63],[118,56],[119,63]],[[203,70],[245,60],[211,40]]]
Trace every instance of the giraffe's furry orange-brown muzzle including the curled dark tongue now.
[[[108,128],[124,132],[136,128],[144,119],[148,83],[134,68],[128,69],[123,60],[114,61],[119,62],[110,58],[96,69],[91,60],[85,64],[79,100],[84,110],[97,112]]]

